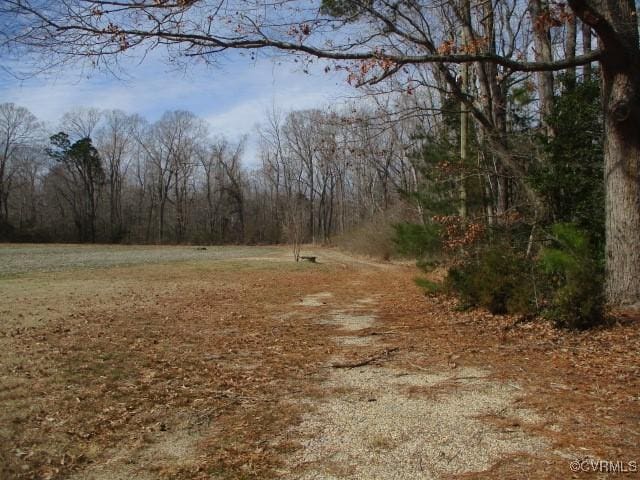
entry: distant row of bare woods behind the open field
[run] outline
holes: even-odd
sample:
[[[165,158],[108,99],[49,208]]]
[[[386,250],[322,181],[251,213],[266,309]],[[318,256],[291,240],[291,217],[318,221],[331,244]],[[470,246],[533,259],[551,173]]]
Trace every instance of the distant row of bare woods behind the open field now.
[[[373,112],[272,111],[230,141],[187,111],[151,123],[91,108],[47,130],[0,105],[0,239],[328,242],[414,192],[412,122]]]

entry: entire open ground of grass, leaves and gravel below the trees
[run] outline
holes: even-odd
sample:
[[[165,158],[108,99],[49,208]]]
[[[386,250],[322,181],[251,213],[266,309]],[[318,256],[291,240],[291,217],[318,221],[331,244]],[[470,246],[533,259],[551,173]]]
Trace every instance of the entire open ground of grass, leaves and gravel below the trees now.
[[[640,328],[425,297],[329,249],[0,246],[0,478],[600,478]],[[636,478],[637,473],[620,474]]]

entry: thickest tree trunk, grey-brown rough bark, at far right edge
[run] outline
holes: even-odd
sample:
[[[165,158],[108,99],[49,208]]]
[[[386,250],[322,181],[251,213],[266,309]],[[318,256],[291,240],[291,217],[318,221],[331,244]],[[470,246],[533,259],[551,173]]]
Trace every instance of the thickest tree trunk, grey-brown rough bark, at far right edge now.
[[[640,39],[634,0],[570,0],[603,50],[606,293],[640,308]]]

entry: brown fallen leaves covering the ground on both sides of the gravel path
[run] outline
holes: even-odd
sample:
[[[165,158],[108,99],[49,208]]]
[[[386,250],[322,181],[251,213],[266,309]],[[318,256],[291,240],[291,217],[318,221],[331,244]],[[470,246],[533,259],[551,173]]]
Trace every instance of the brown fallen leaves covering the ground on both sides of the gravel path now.
[[[409,371],[482,366],[521,385],[527,408],[556,417],[553,429],[540,428],[558,448],[640,458],[636,319],[575,333],[460,311],[454,299],[425,298],[412,268],[137,272],[139,288],[118,302],[97,308],[79,298],[73,316],[5,336],[3,478],[67,478],[123,450],[156,461],[159,479],[277,477],[297,448],[286,432],[309,408],[298,400],[338,348],[333,327],[309,321],[296,303],[327,290],[332,302],[377,299],[381,323],[369,334],[389,346],[348,368],[397,349],[394,366]],[[168,288],[177,275],[184,283]],[[197,439],[189,462],[153,457],[180,432]],[[513,465],[522,464],[481,478],[509,477]],[[551,462],[540,478],[562,478],[566,468]]]

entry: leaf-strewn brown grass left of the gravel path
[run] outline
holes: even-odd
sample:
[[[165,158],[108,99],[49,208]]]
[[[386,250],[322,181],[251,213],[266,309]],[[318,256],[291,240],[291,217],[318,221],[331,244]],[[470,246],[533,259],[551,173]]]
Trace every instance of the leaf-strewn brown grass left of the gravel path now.
[[[292,399],[334,348],[331,327],[279,314],[335,273],[242,266],[4,280],[0,477],[67,478],[122,452],[121,463],[152,463],[155,478],[267,475],[291,448]],[[153,454],[184,435],[187,465]]]

